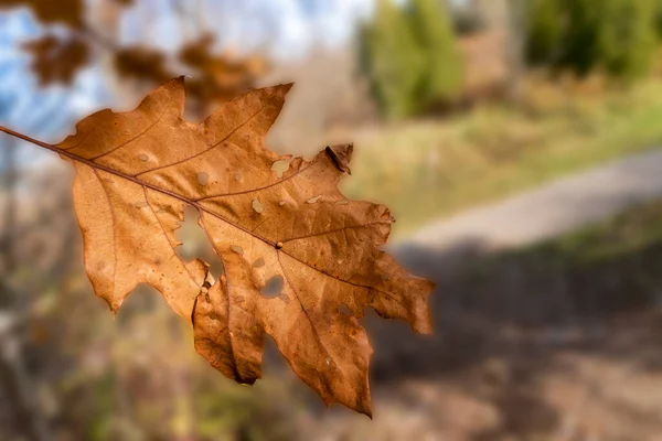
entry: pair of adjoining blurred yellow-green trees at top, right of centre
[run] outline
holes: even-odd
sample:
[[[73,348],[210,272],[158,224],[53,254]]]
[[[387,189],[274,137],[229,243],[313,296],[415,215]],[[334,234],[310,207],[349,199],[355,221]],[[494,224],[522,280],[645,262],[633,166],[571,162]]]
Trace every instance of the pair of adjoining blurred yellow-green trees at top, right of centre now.
[[[380,1],[360,47],[362,69],[386,118],[419,114],[460,90],[461,60],[439,0],[412,0],[406,8]]]

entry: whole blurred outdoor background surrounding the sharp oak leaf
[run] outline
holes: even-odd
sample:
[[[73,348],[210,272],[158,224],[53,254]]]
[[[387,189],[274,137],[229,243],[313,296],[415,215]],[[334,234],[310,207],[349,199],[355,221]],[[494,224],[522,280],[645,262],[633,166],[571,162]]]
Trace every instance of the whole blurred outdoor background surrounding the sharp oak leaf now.
[[[271,342],[226,380],[153,290],[113,319],[70,166],[2,136],[0,440],[662,439],[661,1],[0,0],[2,126],[57,142],[179,75],[191,121],[296,82],[268,146],[355,142],[436,333],[369,313],[373,421]]]

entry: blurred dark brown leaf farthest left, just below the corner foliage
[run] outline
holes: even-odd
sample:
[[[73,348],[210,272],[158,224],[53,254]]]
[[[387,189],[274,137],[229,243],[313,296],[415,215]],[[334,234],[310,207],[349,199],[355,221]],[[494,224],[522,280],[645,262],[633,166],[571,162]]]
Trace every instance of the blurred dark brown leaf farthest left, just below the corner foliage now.
[[[31,67],[42,86],[72,83],[89,55],[87,44],[81,40],[60,40],[53,35],[29,41],[23,47],[32,54]]]

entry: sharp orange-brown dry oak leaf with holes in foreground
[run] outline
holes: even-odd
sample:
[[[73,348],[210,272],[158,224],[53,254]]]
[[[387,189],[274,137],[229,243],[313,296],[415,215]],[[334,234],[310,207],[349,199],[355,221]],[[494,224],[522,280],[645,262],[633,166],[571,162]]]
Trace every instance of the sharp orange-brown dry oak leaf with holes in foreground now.
[[[429,333],[433,284],[380,250],[391,230],[387,208],[346,201],[338,190],[351,144],[311,162],[265,149],[290,87],[252,90],[194,125],[181,118],[178,78],[134,111],[102,110],[78,122],[56,148],[77,172],[85,266],[113,311],[138,283],[159,290],[191,320],[196,351],[227,377],[260,377],[268,334],[327,404],[371,415],[372,347],[359,319],[370,306]],[[175,252],[185,205],[200,212],[223,262],[215,283],[206,263]],[[280,292],[264,295],[273,278],[281,279]]]

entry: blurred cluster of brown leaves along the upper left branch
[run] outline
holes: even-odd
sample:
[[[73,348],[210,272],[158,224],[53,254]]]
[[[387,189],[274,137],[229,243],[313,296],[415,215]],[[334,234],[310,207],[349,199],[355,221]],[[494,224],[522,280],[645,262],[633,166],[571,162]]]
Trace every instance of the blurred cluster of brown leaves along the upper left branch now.
[[[115,3],[128,7],[132,1],[115,0]],[[110,53],[120,77],[147,83],[150,87],[183,73],[191,74],[191,98],[196,110],[204,112],[210,106],[253,87],[267,69],[259,56],[239,60],[229,54],[215,54],[215,39],[209,33],[184,43],[174,57],[145,45],[121,46],[85,21],[87,7],[82,0],[0,0],[0,10],[19,7],[29,7],[43,24],[56,23],[70,31],[65,39],[46,35],[24,45],[33,57],[32,69],[41,86],[71,84],[79,69],[94,61],[92,55],[102,50]],[[114,11],[124,12],[124,8]]]

